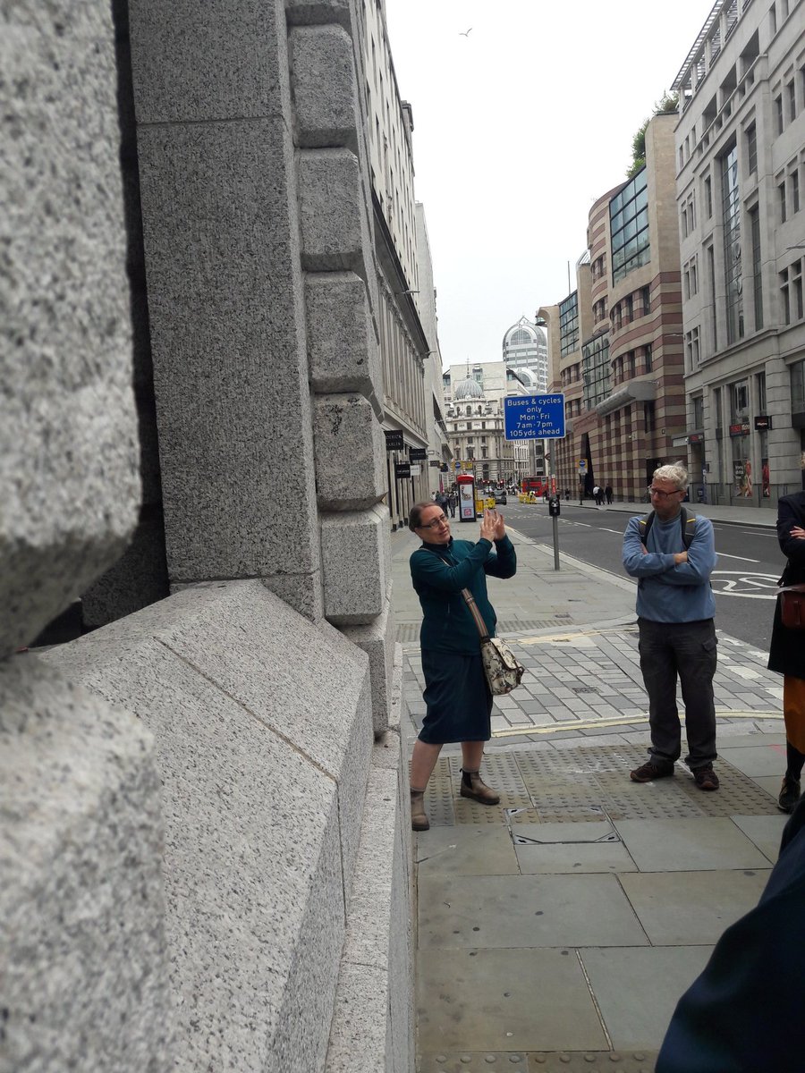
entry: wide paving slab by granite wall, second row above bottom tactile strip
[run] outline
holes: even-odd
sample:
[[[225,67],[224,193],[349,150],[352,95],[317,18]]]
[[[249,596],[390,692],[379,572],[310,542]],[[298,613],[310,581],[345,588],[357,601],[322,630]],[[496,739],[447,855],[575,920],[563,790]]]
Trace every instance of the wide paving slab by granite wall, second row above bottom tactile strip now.
[[[614,876],[422,877],[420,950],[647,942]]]

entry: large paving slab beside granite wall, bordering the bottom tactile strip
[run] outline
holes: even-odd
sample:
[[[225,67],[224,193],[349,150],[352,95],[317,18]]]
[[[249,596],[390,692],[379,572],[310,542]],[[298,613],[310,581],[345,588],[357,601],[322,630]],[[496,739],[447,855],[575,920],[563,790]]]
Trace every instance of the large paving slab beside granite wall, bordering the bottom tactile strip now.
[[[609,1047],[572,950],[421,951],[418,1023],[421,1052]]]

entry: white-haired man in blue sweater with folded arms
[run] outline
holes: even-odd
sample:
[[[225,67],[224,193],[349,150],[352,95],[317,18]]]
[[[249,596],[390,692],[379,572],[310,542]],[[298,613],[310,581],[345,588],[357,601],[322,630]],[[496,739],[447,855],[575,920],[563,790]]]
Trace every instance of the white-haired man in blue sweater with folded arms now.
[[[638,578],[640,670],[648,693],[652,747],[633,782],[674,774],[682,752],[676,677],[685,702],[685,763],[700,790],[718,790],[716,759],[716,601],[709,575],[718,561],[713,524],[688,518],[682,501],[688,474],[680,465],[660,466],[652,486],[653,516],[630,518],[624,534],[624,567]],[[648,524],[647,524],[648,523]],[[692,532],[691,532],[692,530]]]

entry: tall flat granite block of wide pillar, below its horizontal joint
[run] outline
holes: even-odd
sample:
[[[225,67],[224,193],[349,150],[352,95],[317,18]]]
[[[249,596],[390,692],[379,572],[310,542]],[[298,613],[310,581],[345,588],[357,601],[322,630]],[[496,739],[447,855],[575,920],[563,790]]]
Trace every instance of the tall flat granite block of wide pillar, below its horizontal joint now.
[[[312,576],[312,433],[286,126],[146,127],[137,148],[171,582]],[[278,503],[280,476],[290,509]]]

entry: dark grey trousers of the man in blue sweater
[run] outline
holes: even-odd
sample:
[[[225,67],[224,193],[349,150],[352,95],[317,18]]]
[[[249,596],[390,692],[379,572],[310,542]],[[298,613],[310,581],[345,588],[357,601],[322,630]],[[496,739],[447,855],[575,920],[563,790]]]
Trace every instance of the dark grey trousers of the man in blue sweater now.
[[[652,727],[649,755],[660,766],[682,752],[682,726],[676,707],[676,676],[685,702],[685,733],[691,770],[716,759],[716,628],[712,618],[698,622],[652,622],[639,618],[640,670],[648,693]]]

